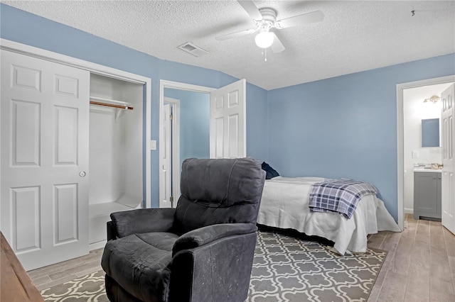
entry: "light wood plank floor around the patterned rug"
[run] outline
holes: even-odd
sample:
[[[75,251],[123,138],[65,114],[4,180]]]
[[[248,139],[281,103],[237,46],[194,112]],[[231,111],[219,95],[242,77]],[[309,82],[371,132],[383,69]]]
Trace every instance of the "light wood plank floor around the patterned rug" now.
[[[368,301],[455,301],[455,236],[440,222],[406,216],[402,233],[370,235],[368,247],[387,250]],[[28,272],[39,290],[101,269],[102,250]]]

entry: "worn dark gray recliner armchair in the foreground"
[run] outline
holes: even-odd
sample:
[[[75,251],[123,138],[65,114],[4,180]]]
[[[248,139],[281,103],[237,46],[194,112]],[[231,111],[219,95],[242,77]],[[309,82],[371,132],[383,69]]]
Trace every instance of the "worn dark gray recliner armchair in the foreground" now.
[[[102,255],[110,301],[245,301],[264,186],[250,158],[183,162],[176,208],[112,213]]]

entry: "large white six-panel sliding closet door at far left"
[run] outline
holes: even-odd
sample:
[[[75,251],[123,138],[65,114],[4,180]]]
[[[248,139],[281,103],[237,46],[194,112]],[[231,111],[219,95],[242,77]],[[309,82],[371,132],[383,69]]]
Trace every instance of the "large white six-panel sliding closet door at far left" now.
[[[89,85],[1,50],[1,231],[26,270],[88,253]]]

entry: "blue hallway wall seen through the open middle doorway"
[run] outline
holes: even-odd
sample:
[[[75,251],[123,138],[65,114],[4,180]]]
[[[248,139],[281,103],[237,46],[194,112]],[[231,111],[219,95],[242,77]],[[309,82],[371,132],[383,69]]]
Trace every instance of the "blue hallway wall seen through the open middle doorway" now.
[[[164,89],[164,96],[180,100],[180,162],[210,157],[210,94]]]

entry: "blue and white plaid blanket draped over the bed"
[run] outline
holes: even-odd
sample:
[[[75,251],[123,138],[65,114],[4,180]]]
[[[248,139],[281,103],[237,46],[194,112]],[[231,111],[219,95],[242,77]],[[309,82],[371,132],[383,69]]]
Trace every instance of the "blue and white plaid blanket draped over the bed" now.
[[[365,195],[378,194],[372,184],[352,179],[328,179],[311,186],[309,207],[313,212],[337,212],[350,219]]]

